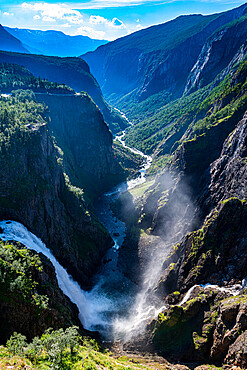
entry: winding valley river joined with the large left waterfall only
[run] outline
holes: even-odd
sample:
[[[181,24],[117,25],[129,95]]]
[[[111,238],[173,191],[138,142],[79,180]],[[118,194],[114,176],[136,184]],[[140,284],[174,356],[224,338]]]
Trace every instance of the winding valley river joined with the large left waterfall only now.
[[[124,142],[124,135],[123,132],[116,139],[124,147],[127,147]],[[138,287],[118,270],[118,250],[123,244],[126,227],[122,221],[113,215],[111,203],[123,192],[146,181],[146,171],[151,165],[152,158],[136,149],[128,149],[144,157],[145,163],[141,167],[137,178],[119,184],[112,191],[103,194],[97,201],[95,213],[111,235],[114,245],[103,258],[101,269],[93,278],[91,291],[83,291],[79,284],[67,273],[66,269],[59,264],[45,244],[22,224],[15,221],[0,222],[0,227],[3,230],[2,239],[19,241],[27,248],[43,253],[51,261],[56,271],[59,287],[78,307],[79,319],[82,325],[85,329],[99,331],[106,341],[123,338],[123,331],[125,330],[119,325],[119,322],[121,317],[124,317],[130,311],[130,306],[132,306],[138,293]],[[154,314],[155,312],[152,312],[152,315]],[[143,321],[142,317],[141,321]],[[125,319],[122,322],[124,323]],[[129,329],[126,327],[126,330]]]

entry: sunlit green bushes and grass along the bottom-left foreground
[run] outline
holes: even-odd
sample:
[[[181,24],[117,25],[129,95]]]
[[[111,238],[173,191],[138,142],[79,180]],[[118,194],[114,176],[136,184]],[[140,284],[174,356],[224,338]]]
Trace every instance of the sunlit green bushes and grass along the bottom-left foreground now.
[[[14,333],[6,347],[0,347],[0,368],[30,368],[36,370],[134,370],[168,369],[148,357],[113,355],[95,340],[82,337],[78,328],[48,329],[30,343]]]

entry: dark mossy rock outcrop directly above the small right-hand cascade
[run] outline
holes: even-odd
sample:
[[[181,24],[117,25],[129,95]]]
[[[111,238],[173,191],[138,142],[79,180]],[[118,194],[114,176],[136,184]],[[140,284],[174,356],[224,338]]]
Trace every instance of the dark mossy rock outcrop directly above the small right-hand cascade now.
[[[246,206],[237,198],[215,209],[200,230],[182,240],[164,263],[159,285],[165,296],[195,284],[239,282],[245,278]]]

